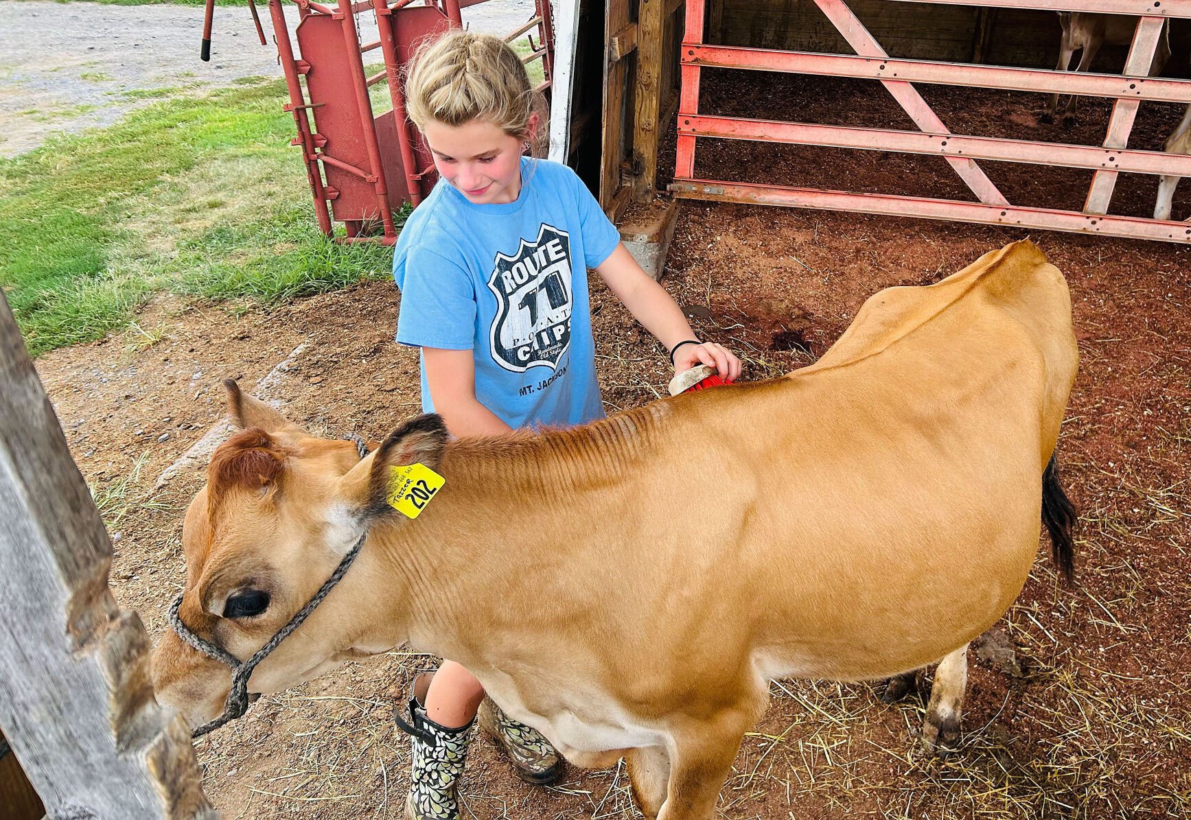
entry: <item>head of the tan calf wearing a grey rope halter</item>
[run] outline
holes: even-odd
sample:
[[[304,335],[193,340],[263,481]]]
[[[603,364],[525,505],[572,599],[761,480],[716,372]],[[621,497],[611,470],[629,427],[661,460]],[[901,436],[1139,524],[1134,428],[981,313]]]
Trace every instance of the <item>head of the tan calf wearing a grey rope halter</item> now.
[[[400,526],[385,501],[391,465],[437,467],[447,442],[442,420],[407,422],[360,458],[351,442],[313,437],[272,407],[225,382],[239,432],[216,450],[207,483],[182,525],[186,587],[179,618],[195,636],[241,661],[251,657],[318,591],[373,526]],[[384,559],[368,544],[313,614],[252,672],[249,691],[285,689],[343,659],[394,643],[375,609],[392,596],[375,578]],[[192,726],[224,708],[231,670],[173,631],[152,655],[157,697]]]

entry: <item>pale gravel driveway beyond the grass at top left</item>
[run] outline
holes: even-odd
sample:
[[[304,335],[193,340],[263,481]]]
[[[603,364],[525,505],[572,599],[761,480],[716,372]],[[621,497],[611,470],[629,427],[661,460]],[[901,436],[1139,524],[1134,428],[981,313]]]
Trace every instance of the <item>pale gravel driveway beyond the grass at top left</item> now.
[[[286,5],[293,31],[298,7]],[[258,6],[272,37],[268,10]],[[488,0],[464,8],[463,23],[507,33],[532,13],[534,0]],[[361,35],[375,39],[372,14],[358,19]],[[145,90],[282,76],[247,7],[217,6],[208,63],[199,60],[201,36],[202,8],[194,6],[0,0],[0,155],[37,148],[55,131],[111,125],[151,102]]]

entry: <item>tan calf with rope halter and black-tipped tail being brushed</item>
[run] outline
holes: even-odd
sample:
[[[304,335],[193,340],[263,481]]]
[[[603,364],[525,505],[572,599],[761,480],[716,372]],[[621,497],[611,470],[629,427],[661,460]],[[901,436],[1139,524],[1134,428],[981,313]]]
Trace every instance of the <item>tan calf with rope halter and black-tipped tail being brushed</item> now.
[[[1071,569],[1052,456],[1075,368],[1066,283],[1016,243],[877,294],[786,377],[570,431],[449,440],[419,417],[360,459],[233,388],[248,430],[187,513],[179,615],[247,658],[366,537],[252,691],[406,644],[570,760],[625,757],[648,818],[707,820],[772,678],[944,659],[924,736],[954,737],[965,646],[1021,590],[1040,509]],[[447,483],[411,521],[385,495],[413,462]],[[193,724],[229,691],[173,633],[154,676]]]

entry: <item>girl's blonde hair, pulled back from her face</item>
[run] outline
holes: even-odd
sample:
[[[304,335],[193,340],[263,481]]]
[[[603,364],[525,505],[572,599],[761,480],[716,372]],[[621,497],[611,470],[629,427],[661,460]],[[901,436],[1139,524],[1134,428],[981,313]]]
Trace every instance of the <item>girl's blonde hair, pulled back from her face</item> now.
[[[455,30],[418,48],[405,81],[405,108],[423,132],[430,121],[457,127],[479,119],[529,139],[534,88],[503,39]]]

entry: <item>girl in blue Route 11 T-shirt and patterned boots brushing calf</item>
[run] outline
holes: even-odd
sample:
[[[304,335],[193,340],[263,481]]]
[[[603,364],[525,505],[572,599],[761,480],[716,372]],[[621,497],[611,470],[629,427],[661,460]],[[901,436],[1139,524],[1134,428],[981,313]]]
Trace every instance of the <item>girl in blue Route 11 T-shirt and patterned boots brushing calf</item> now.
[[[566,165],[524,156],[540,126],[520,60],[501,39],[454,31],[424,46],[406,81],[410,119],[438,184],[405,224],[393,256],[399,343],[422,349],[422,405],[456,437],[604,417],[587,296],[593,268],[671,351],[675,373],[740,362],[696,339],[681,309],[621,244]],[[482,706],[481,706],[482,705]],[[484,700],[457,663],[414,682],[410,820],[456,820],[469,730],[481,728],[518,774],[548,783],[562,760],[535,730]]]

